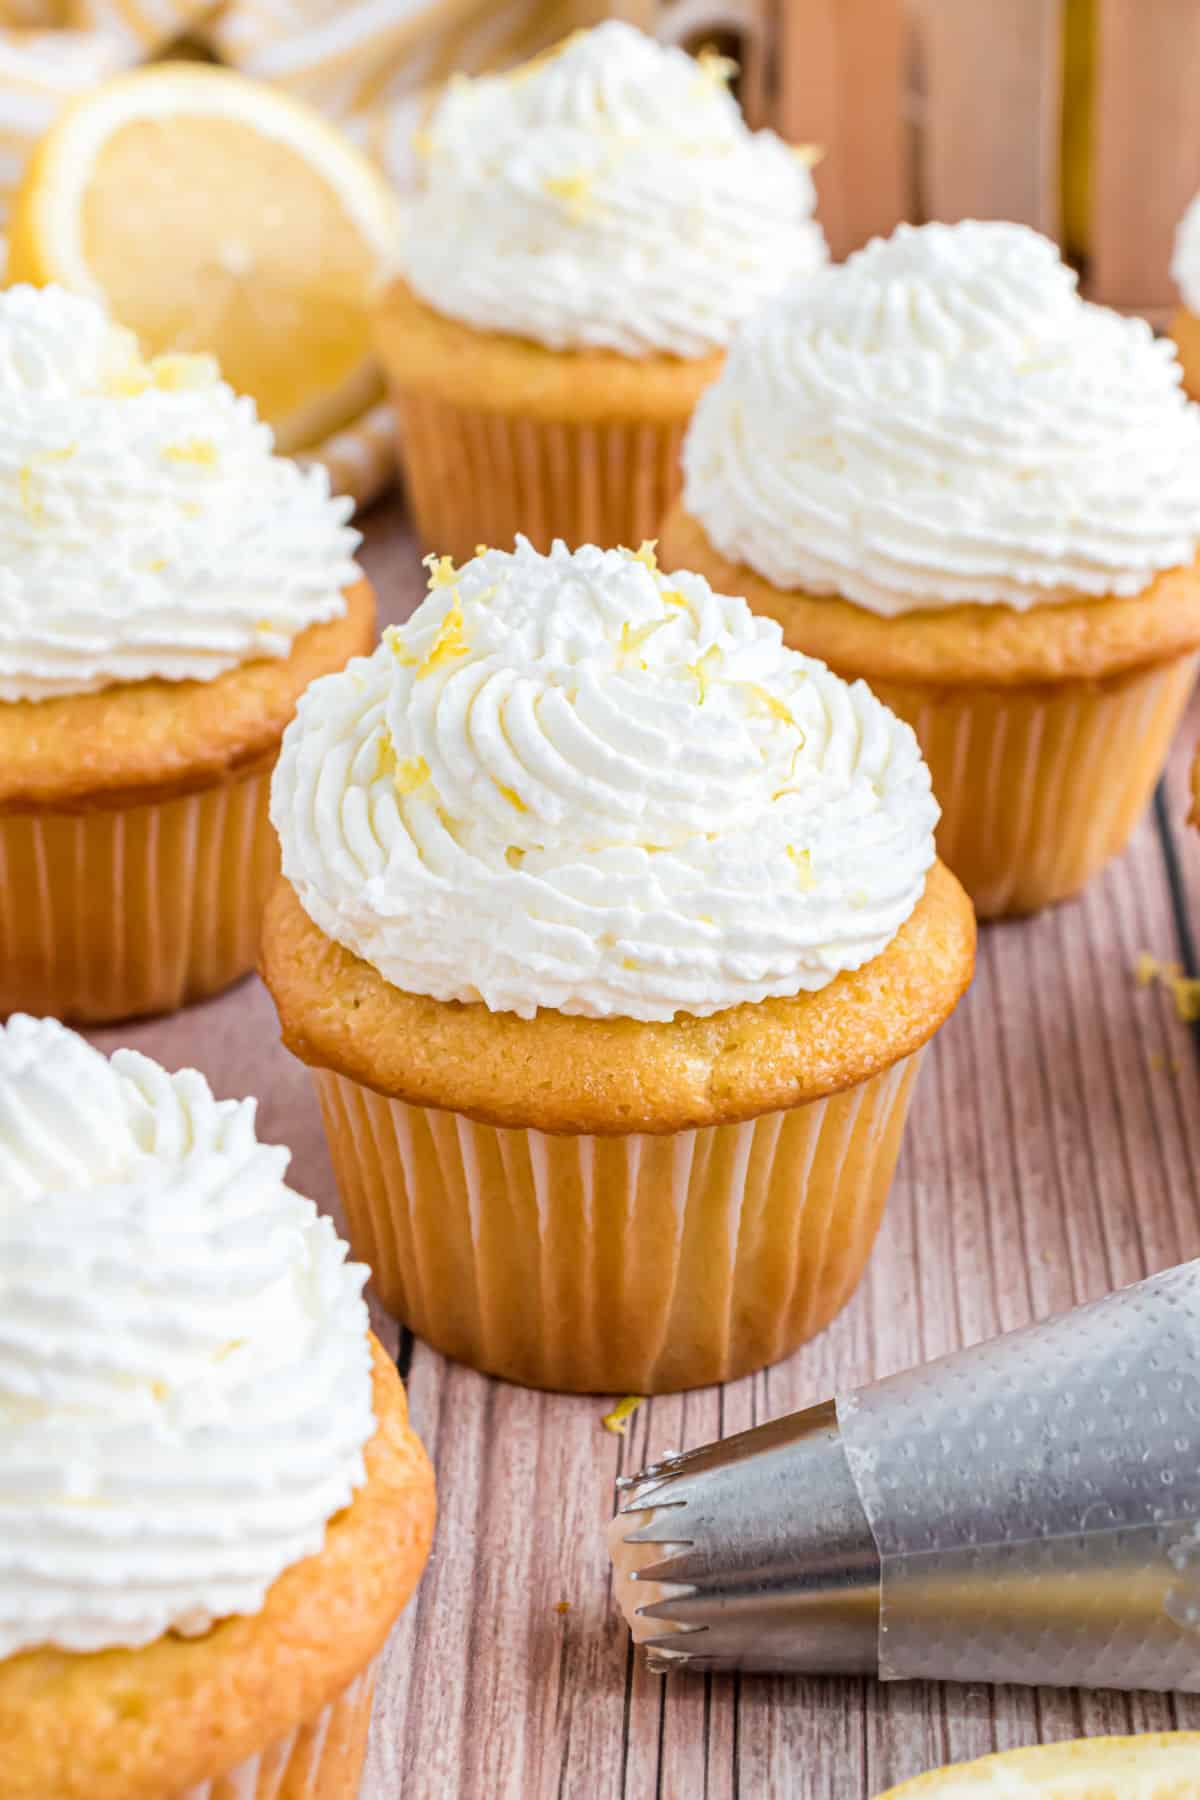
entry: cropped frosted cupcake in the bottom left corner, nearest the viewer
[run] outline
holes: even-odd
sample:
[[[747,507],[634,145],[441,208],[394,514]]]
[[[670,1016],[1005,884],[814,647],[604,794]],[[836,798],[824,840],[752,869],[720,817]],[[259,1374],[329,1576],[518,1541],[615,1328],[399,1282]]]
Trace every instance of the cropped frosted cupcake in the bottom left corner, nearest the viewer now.
[[[353,1800],[434,1478],[252,1100],[0,1028],[0,1793]]]

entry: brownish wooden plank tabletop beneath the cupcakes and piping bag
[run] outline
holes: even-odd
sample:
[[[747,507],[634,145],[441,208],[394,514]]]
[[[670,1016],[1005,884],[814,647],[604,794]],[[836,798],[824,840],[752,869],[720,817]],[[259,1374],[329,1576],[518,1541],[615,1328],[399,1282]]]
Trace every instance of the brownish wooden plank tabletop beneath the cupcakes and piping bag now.
[[[363,562],[387,621],[425,581],[394,502]],[[628,1438],[604,1402],[527,1393],[376,1328],[408,1379],[441,1521],[385,1652],[363,1800],[871,1800],[1015,1744],[1200,1728],[1200,1699],[864,1679],[651,1676],[612,1602],[613,1480],[1200,1255],[1200,1026],[1139,988],[1150,950],[1200,974],[1200,833],[1184,826],[1193,706],[1130,851],[1078,902],[988,927],[936,1039],[883,1231],[846,1312],[752,1379],[648,1400]],[[219,1094],[261,1096],[291,1181],[336,1215],[317,1103],[246,981],[207,1006],[97,1033]],[[563,1607],[565,1602],[565,1607]]]

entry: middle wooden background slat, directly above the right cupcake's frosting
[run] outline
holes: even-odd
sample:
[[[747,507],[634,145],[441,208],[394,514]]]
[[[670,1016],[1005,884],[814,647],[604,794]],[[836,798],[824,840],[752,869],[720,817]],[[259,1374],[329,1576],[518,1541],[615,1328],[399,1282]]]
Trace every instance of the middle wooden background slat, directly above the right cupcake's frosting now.
[[[1061,0],[918,0],[921,202],[1058,229]]]

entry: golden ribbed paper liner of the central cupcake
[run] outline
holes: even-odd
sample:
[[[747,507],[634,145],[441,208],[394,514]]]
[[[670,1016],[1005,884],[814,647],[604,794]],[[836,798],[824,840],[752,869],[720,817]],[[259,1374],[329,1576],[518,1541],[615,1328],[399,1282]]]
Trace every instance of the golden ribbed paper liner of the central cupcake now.
[[[533,1388],[667,1393],[775,1363],[846,1305],[918,1060],[743,1125],[613,1138],[313,1075],[354,1255],[405,1325]]]

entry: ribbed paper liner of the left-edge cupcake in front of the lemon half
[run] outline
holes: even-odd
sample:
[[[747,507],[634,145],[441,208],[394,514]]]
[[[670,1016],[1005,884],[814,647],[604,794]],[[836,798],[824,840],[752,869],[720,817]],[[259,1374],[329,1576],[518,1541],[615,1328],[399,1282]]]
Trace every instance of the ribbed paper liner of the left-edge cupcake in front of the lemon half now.
[[[171,1012],[254,968],[270,769],[182,799],[0,814],[0,1017]]]

